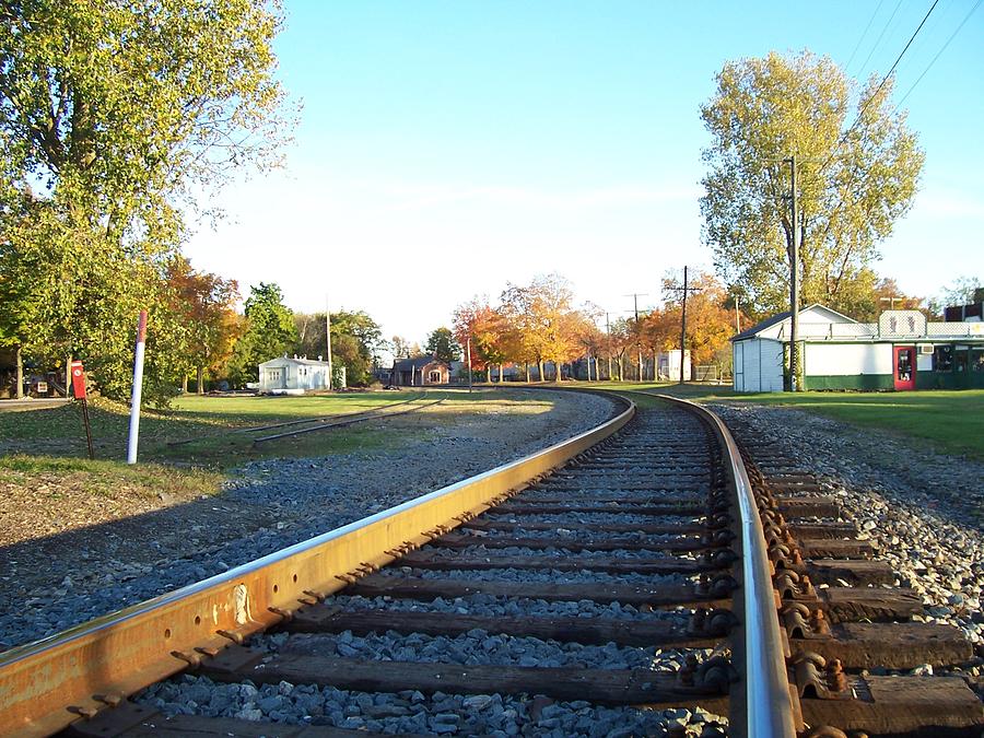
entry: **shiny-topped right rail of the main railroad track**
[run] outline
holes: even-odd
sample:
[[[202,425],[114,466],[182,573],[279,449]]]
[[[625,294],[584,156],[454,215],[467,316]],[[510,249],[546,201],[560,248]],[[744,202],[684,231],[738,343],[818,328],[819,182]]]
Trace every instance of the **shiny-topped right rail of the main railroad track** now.
[[[715,435],[722,441],[740,514],[746,735],[753,738],[795,738],[796,717],[778,612],[775,607],[775,590],[772,586],[765,534],[738,444],[735,443],[724,421],[707,408],[669,395],[640,394],[695,411],[711,423]]]

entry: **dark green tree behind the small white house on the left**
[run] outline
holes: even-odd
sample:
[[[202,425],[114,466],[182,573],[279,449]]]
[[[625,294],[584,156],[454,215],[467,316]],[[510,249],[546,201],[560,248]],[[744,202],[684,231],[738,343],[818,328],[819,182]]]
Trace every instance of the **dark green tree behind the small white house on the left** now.
[[[246,331],[230,362],[230,379],[237,385],[259,379],[259,365],[290,352],[297,343],[294,314],[283,304],[277,284],[260,282],[249,288]]]

